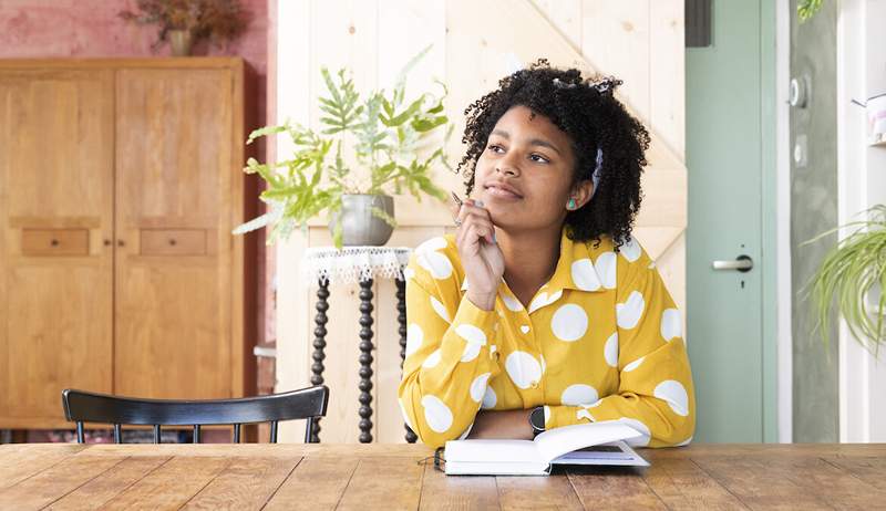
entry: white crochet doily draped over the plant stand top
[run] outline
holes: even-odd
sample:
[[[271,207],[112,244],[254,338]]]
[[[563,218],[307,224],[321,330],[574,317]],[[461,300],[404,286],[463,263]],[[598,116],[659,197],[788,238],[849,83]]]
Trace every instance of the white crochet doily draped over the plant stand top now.
[[[409,247],[315,247],[301,258],[302,282],[310,285],[321,278],[334,283],[354,283],[368,279],[402,279],[409,263]]]

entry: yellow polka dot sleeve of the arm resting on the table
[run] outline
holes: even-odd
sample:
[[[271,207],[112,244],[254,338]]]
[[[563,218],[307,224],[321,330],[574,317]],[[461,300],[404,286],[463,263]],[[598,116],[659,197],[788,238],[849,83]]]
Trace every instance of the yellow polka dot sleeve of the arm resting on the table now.
[[[641,268],[616,299],[618,394],[587,405],[550,406],[547,427],[620,420],[643,434],[629,441],[636,446],[691,441],[696,397],[680,312],[655,265]]]

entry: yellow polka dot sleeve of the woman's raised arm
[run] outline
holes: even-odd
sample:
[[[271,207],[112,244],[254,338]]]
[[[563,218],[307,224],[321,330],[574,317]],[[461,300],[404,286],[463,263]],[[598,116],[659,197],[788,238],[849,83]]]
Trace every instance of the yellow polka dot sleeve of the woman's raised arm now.
[[[436,448],[466,436],[487,382],[502,371],[493,344],[498,314],[462,299],[457,279],[436,279],[440,274],[427,272],[414,254],[405,274],[400,406],[419,439]]]

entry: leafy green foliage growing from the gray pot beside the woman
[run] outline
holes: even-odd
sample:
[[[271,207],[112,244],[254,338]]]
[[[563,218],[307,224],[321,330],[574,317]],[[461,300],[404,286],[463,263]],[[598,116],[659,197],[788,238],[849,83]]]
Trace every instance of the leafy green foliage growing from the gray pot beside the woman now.
[[[286,239],[296,227],[307,229],[308,219],[324,210],[332,219],[341,210],[341,196],[346,194],[399,195],[405,188],[419,201],[421,192],[445,200],[446,192],[433,184],[430,171],[435,161],[452,168],[444,150],[453,128],[443,113],[446,86],[435,81],[442,86],[441,96],[423,93],[405,101],[406,74],[430,49],[406,63],[391,92],[372,91],[362,102],[344,69],[334,80],[329,70],[321,67],[328,96],[319,98],[324,114],[319,133],[289,121],[254,131],[247,144],[258,137],[286,134],[293,150],[289,159],[277,163],[260,164],[249,158],[244,171],[258,174],[267,181],[260,199],[268,205],[268,212],[237,227],[234,233],[274,225],[268,243],[279,237]],[[439,128],[445,128],[444,144],[431,137]],[[346,145],[350,160],[342,155],[343,142],[350,142]],[[420,157],[419,153],[426,154],[431,144],[436,149]],[[354,168],[369,171],[368,185],[353,178],[359,177]],[[395,227],[394,219],[384,211],[374,209],[372,213]],[[332,238],[341,248],[340,221],[334,223]]]

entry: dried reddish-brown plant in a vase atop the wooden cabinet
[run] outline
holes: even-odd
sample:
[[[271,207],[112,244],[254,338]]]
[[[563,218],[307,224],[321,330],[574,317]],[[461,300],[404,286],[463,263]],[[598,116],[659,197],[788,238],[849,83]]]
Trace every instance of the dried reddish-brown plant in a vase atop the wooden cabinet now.
[[[239,0],[136,0],[135,12],[125,10],[120,17],[137,24],[159,25],[156,50],[169,41],[175,56],[190,54],[194,43],[208,39],[220,45],[237,39],[249,24]]]

